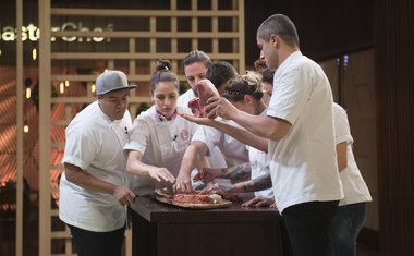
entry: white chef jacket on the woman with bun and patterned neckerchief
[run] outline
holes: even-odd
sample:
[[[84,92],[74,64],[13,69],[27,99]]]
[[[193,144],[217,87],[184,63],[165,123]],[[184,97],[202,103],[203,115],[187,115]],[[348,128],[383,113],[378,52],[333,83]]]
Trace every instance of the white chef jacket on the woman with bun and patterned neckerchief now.
[[[185,111],[180,106],[176,110],[178,112]],[[135,119],[130,132],[131,139],[124,146],[124,150],[139,151],[144,163],[165,167],[176,178],[196,126],[197,124],[180,115],[161,122],[157,115],[156,106],[153,106]],[[137,195],[148,195],[156,187],[171,186],[170,183],[157,182],[150,176],[129,175],[129,180],[130,188]]]

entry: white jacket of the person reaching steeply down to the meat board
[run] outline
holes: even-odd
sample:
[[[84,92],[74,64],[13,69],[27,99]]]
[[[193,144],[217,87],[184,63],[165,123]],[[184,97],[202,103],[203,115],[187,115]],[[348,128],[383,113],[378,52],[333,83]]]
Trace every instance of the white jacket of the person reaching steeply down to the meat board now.
[[[239,125],[233,121],[221,119],[224,122],[230,122]],[[199,125],[193,136],[193,142],[198,141],[208,147],[209,153],[212,148],[218,147],[224,157],[227,167],[234,167],[248,162],[248,153],[245,145],[232,136],[222,133],[214,127]]]

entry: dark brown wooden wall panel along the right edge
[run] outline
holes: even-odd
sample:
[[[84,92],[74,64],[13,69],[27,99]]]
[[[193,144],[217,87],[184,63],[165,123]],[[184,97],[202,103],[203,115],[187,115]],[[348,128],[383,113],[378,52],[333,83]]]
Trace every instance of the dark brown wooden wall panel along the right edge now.
[[[374,1],[381,255],[414,253],[414,2]]]

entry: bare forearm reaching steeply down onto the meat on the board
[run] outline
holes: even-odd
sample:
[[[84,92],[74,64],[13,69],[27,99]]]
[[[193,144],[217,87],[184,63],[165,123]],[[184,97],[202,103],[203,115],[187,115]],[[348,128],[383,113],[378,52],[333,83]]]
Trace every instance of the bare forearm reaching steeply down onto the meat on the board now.
[[[180,173],[176,176],[176,182],[172,187],[174,193],[192,193],[191,172],[195,168],[200,167],[200,162],[205,159],[208,153],[206,144],[194,141],[185,149],[183,160],[181,161]]]

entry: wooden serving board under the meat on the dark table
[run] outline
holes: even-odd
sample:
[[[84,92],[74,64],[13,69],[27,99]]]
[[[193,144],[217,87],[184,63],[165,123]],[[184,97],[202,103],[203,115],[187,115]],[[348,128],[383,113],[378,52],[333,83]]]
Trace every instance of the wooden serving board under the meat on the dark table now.
[[[190,208],[190,209],[216,209],[216,208],[224,208],[231,206],[230,200],[222,199],[220,203],[210,203],[210,204],[194,204],[194,203],[181,203],[181,202],[174,202],[173,193],[168,192],[165,190],[155,190],[153,197],[161,203],[174,205],[183,208]]]

